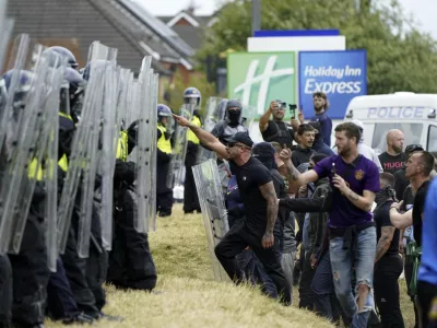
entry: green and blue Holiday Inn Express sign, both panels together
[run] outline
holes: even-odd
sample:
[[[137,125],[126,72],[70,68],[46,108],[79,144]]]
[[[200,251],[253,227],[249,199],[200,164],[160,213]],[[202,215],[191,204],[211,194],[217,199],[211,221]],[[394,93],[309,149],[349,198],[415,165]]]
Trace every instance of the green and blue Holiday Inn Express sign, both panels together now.
[[[256,119],[273,99],[299,105],[310,118],[316,91],[327,94],[329,116],[343,119],[351,99],[367,94],[366,50],[240,52],[227,58],[227,96],[256,107]]]

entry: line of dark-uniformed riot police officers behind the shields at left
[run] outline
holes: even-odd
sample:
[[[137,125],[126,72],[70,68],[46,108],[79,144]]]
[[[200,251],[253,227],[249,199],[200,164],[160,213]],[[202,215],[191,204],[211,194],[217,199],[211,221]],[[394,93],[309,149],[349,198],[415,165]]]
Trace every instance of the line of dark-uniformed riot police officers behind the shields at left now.
[[[61,56],[69,65],[64,74],[67,86],[61,89],[61,98],[68,96],[68,106],[59,106],[58,192],[60,192],[69,169],[72,140],[76,124],[81,119],[91,69],[87,65],[81,70],[81,74],[76,70],[78,62],[73,54],[67,48],[50,47],[45,51]],[[0,103],[4,102],[11,86],[11,75],[12,72],[9,71],[1,79]],[[14,106],[20,105],[25,109],[22,103],[26,98],[33,79],[32,72],[20,71]],[[135,164],[128,157],[135,147],[137,129],[138,122],[133,122],[129,128],[121,128],[119,131],[114,174],[113,250],[108,253],[104,248],[99,221],[101,204],[98,200],[94,200],[90,256],[88,258],[79,256],[76,244],[80,195],[78,195],[67,247],[57,259],[56,272],[50,272],[47,265],[47,223],[44,220],[43,209],[45,187],[42,178],[44,164],[31,163],[28,177],[36,176],[37,183],[21,250],[16,255],[0,255],[0,327],[12,327],[12,325],[44,327],[46,316],[62,320],[63,324],[92,323],[102,318],[121,320],[120,317],[108,316],[102,312],[106,303],[104,282],[121,289],[152,291],[155,288],[156,269],[147,234],[139,233],[134,229]],[[4,154],[0,154],[2,175],[5,164]],[[99,184],[101,179],[97,178],[95,190],[99,188]]]

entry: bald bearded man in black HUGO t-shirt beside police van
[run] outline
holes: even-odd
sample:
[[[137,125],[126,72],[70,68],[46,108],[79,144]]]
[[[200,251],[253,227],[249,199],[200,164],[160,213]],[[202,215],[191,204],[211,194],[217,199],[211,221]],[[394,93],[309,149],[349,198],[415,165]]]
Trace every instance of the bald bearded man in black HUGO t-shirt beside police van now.
[[[394,174],[403,167],[405,162],[405,153],[402,151],[404,140],[401,130],[393,129],[387,132],[387,152],[379,155],[383,172]]]

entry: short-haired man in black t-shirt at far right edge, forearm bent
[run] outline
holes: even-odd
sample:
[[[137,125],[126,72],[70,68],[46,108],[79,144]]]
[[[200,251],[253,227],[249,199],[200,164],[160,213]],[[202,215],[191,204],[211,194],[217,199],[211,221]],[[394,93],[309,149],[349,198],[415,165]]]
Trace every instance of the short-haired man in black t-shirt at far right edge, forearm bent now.
[[[405,229],[413,225],[414,239],[418,246],[422,243],[422,215],[425,203],[426,189],[434,168],[434,156],[429,152],[415,152],[405,164],[405,177],[410,179],[415,191],[413,209],[401,214],[399,203],[390,208],[391,223],[398,229]]]

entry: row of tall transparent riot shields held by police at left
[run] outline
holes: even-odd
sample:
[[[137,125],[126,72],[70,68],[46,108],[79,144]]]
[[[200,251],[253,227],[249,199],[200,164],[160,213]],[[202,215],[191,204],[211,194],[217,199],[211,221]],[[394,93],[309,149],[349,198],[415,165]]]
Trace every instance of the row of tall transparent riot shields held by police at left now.
[[[3,14],[2,2],[0,45],[8,43],[11,25]],[[0,54],[0,63],[2,58]],[[117,49],[98,42],[91,45],[81,119],[62,186],[58,185],[58,113],[69,108],[62,102],[70,97],[61,96],[67,62],[28,35],[14,40],[10,58],[0,85],[0,254],[20,251],[36,195],[44,199],[50,270],[56,270],[56,259],[64,251],[73,213],[79,256],[88,256],[95,215],[102,246],[110,250],[117,147],[121,129],[134,120],[135,227],[139,232],[154,230],[157,75],[151,58],[144,58],[135,80],[132,71],[117,66]]]

